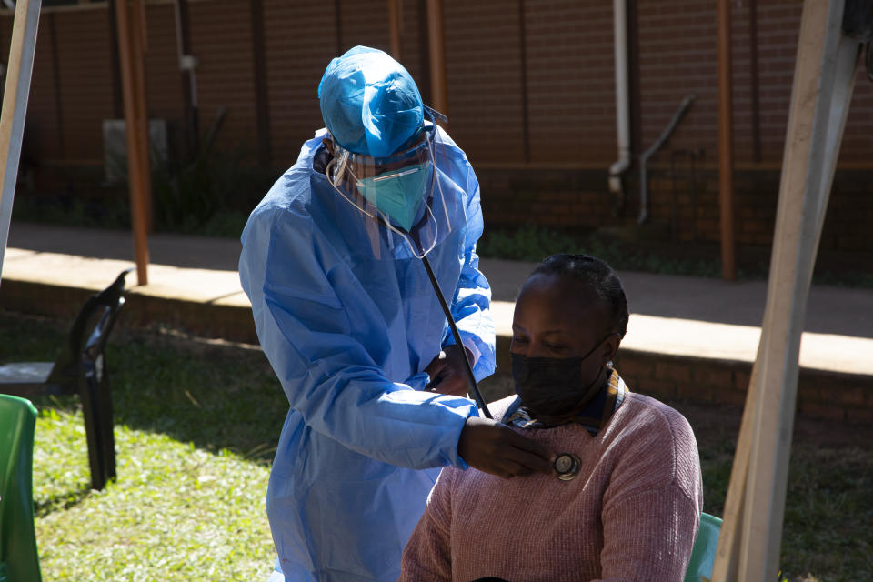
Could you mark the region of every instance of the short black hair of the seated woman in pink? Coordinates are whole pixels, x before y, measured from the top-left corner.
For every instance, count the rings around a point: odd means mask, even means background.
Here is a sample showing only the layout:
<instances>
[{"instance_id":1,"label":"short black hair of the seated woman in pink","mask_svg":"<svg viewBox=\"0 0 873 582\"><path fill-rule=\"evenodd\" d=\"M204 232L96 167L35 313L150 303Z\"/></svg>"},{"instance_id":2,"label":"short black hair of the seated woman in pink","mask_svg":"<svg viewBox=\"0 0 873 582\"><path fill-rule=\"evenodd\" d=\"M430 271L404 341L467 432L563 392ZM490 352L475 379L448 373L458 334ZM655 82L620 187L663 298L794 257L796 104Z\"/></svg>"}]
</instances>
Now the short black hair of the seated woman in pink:
<instances>
[{"instance_id":1,"label":"short black hair of the seated woman in pink","mask_svg":"<svg viewBox=\"0 0 873 582\"><path fill-rule=\"evenodd\" d=\"M618 274L605 261L596 256L568 255L560 253L549 256L534 269L532 275L567 276L585 284L609 309L610 321L618 336L627 333L627 297Z\"/></svg>"}]
</instances>

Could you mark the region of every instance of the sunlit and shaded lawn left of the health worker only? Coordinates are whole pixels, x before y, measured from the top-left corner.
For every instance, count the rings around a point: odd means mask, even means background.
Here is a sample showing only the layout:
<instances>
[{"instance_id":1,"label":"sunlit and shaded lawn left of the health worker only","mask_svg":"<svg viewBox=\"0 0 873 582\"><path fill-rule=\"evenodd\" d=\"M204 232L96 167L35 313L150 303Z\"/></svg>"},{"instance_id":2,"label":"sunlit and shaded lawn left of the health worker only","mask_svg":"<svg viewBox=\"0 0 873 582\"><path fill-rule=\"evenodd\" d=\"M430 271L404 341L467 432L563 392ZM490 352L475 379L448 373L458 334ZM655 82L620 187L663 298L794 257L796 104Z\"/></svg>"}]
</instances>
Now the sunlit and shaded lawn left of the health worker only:
<instances>
[{"instance_id":1,"label":"sunlit and shaded lawn left of the health worker only","mask_svg":"<svg viewBox=\"0 0 873 582\"><path fill-rule=\"evenodd\" d=\"M53 322L0 312L0 362L50 360ZM116 329L106 353L118 479L91 491L75 397L37 398L45 580L263 580L269 463L287 401L259 350Z\"/></svg>"}]
</instances>

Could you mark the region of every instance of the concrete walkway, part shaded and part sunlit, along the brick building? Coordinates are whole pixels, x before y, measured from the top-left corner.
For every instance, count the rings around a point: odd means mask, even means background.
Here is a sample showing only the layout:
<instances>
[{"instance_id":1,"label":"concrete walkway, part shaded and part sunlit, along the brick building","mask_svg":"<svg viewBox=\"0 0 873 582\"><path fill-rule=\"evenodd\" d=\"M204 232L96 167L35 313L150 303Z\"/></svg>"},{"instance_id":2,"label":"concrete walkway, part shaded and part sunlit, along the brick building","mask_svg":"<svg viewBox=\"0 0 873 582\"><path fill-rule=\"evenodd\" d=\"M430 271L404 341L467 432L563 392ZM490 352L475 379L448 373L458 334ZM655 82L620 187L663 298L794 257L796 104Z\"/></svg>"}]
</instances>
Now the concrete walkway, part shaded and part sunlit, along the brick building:
<instances>
[{"instance_id":1,"label":"concrete walkway, part shaded and part sunlit, along the brick building","mask_svg":"<svg viewBox=\"0 0 873 582\"><path fill-rule=\"evenodd\" d=\"M149 284L128 277L128 301L171 325L207 336L254 341L250 305L239 285L234 239L156 234L149 237ZM95 291L134 266L126 231L14 223L3 265L0 308L52 313L57 289ZM482 259L493 289L498 336L511 334L513 301L530 263ZM719 279L619 274L632 315L623 349L752 362L758 348L767 285ZM11 288L10 288L11 287ZM33 289L42 289L39 293ZM228 314L233 312L233 316ZM198 321L200 317L202 320ZM235 323L236 322L236 323ZM214 324L214 325L210 325ZM221 325L218 325L221 324ZM236 329L243 326L245 329ZM814 286L809 295L800 362L805 368L873 376L873 289Z\"/></svg>"}]
</instances>

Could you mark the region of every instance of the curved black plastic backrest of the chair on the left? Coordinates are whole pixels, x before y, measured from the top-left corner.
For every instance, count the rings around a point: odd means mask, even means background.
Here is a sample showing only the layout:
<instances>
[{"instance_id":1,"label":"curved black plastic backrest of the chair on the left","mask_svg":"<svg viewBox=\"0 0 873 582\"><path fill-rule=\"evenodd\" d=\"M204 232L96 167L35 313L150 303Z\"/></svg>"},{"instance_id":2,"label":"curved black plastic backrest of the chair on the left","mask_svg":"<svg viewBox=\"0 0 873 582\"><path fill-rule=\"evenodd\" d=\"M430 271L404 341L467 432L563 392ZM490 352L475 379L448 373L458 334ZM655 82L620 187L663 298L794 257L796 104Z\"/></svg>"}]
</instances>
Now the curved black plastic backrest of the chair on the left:
<instances>
[{"instance_id":1,"label":"curved black plastic backrest of the chair on the left","mask_svg":"<svg viewBox=\"0 0 873 582\"><path fill-rule=\"evenodd\" d=\"M88 297L79 310L70 328L66 344L55 359L55 367L48 377L48 383L64 384L70 376L77 376L83 358L95 362L106 345L106 339L121 306L125 305L122 293L125 290L125 276L134 269L125 269L115 278L112 285Z\"/></svg>"}]
</instances>

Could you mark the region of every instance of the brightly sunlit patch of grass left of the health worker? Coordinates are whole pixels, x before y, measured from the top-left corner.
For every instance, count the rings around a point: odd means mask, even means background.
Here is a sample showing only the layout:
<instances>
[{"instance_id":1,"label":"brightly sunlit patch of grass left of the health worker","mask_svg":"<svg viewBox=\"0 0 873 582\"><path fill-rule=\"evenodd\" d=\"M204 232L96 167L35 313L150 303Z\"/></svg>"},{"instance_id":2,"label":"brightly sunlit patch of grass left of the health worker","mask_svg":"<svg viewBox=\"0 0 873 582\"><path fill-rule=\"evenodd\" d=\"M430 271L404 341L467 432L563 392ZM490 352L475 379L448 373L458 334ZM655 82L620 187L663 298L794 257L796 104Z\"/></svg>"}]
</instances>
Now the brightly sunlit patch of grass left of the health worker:
<instances>
[{"instance_id":1,"label":"brightly sunlit patch of grass left of the health worker","mask_svg":"<svg viewBox=\"0 0 873 582\"><path fill-rule=\"evenodd\" d=\"M36 537L46 580L250 580L276 554L269 468L159 433L115 426L118 480L89 491L78 413L36 425Z\"/></svg>"}]
</instances>

